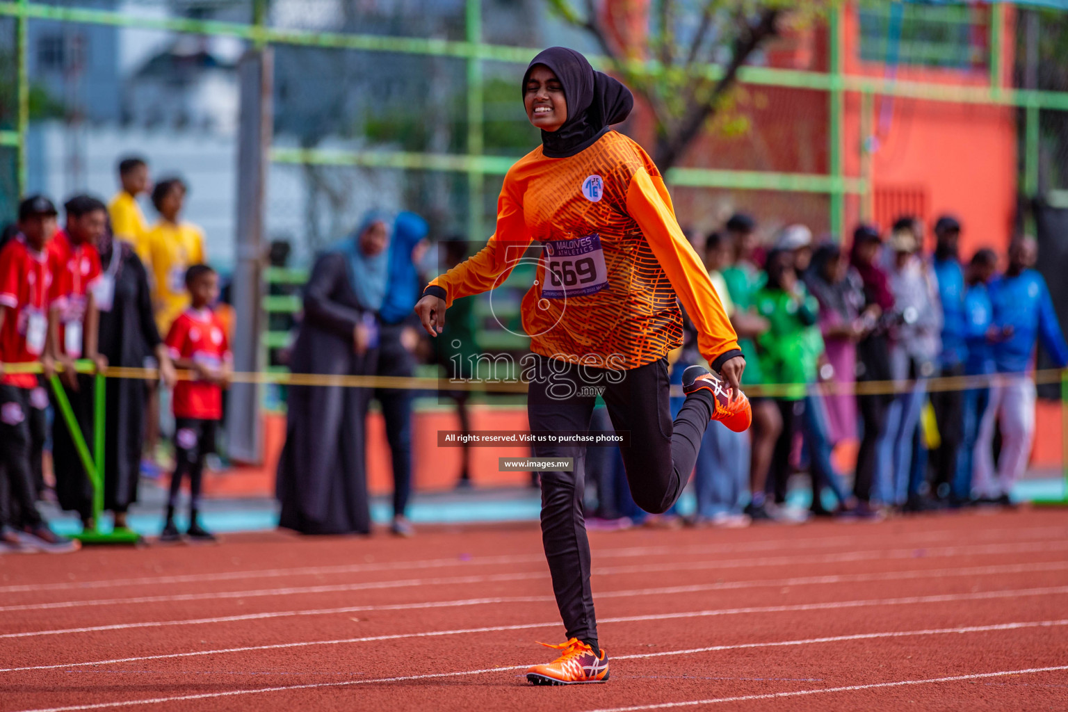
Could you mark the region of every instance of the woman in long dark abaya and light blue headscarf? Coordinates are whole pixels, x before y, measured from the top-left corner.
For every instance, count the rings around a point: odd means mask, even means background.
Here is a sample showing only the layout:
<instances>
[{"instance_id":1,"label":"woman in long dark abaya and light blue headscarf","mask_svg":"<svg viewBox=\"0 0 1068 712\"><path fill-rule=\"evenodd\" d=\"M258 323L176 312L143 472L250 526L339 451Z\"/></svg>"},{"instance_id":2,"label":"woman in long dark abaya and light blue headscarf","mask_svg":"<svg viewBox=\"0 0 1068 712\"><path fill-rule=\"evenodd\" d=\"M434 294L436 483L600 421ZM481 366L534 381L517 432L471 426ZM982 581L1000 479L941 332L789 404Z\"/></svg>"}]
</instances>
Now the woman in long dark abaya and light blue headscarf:
<instances>
[{"instance_id":1,"label":"woman in long dark abaya and light blue headscarf","mask_svg":"<svg viewBox=\"0 0 1068 712\"><path fill-rule=\"evenodd\" d=\"M293 346L295 374L375 373L392 220L370 213L354 236L319 256ZM279 525L302 534L367 534L365 427L372 389L294 385L278 463Z\"/></svg>"}]
</instances>

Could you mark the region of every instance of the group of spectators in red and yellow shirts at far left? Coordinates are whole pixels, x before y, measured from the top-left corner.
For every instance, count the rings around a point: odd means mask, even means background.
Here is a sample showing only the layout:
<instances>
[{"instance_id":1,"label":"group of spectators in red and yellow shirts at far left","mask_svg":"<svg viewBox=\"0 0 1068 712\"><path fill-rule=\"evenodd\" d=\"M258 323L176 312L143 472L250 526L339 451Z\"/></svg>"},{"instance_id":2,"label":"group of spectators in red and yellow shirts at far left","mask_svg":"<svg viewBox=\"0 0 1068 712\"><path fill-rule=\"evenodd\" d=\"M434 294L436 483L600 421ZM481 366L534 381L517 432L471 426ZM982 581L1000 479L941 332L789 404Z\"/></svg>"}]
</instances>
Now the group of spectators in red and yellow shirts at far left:
<instances>
[{"instance_id":1,"label":"group of spectators in red and yellow shirts at far left","mask_svg":"<svg viewBox=\"0 0 1068 712\"><path fill-rule=\"evenodd\" d=\"M182 219L186 184L177 177L153 184L147 162L138 157L122 160L117 174L121 189L108 204L73 195L62 206L61 224L49 197L30 195L19 204L17 222L3 230L0 551L78 548L42 520L42 499L77 512L87 532L96 529L98 508L84 466L97 455L93 374L115 367L152 368L159 378L106 381L104 509L114 512L115 529L125 529L140 475L158 474L162 382L175 445L166 463L172 482L164 539L168 533L178 538L174 508L186 476L186 534L214 538L200 525L198 507L204 461L215 449L214 424L222 417L231 312L219 302L218 276L205 264L202 231ZM138 205L142 193L158 213L153 224ZM175 366L192 371L193 380L177 382Z\"/></svg>"}]
</instances>

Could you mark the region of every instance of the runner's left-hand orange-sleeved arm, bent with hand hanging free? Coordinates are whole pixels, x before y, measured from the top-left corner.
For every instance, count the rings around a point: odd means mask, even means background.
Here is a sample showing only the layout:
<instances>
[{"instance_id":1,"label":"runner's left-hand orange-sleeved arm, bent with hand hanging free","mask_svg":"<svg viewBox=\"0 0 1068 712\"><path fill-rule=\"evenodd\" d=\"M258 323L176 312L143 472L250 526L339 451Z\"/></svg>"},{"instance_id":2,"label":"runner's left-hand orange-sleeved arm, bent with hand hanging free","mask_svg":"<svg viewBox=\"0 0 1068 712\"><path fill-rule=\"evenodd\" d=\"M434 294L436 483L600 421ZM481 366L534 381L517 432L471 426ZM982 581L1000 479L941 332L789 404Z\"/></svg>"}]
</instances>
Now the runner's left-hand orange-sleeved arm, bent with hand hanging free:
<instances>
[{"instance_id":1,"label":"runner's left-hand orange-sleeved arm, bent with hand hanging free","mask_svg":"<svg viewBox=\"0 0 1068 712\"><path fill-rule=\"evenodd\" d=\"M486 247L444 274L430 280L423 297L415 304L423 328L431 336L445 326L445 310L460 297L478 295L508 279L516 262L531 243L523 221L523 208L512 194L505 177L501 196L497 200L497 230Z\"/></svg>"}]
</instances>

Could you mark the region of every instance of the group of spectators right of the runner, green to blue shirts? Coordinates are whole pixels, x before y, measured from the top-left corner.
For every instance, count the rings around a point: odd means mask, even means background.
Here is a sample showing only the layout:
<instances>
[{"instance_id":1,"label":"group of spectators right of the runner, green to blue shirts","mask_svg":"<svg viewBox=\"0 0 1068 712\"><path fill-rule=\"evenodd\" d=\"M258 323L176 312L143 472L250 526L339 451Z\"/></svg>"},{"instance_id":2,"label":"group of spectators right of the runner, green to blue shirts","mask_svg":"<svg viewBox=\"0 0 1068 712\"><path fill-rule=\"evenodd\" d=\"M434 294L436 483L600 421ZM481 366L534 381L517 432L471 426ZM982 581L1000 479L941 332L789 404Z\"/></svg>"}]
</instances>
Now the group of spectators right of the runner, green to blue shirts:
<instances>
[{"instance_id":1,"label":"group of spectators right of the runner, green to blue shirts","mask_svg":"<svg viewBox=\"0 0 1068 712\"><path fill-rule=\"evenodd\" d=\"M719 423L706 431L694 523L1011 504L1035 433L1036 343L1062 368L1068 346L1033 269L1036 241L1021 236L1005 255L962 257L963 228L939 218L929 254L926 226L909 216L886 234L859 225L848 247L816 241L803 225L760 244L747 215L707 237L690 234L738 332L753 406L750 431ZM672 358L675 384L701 362L689 325ZM677 411L682 399L674 401ZM611 428L603 409L595 421ZM611 450L591 452L592 526L648 521L622 465ZM807 510L787 505L800 472L811 480Z\"/></svg>"}]
</instances>

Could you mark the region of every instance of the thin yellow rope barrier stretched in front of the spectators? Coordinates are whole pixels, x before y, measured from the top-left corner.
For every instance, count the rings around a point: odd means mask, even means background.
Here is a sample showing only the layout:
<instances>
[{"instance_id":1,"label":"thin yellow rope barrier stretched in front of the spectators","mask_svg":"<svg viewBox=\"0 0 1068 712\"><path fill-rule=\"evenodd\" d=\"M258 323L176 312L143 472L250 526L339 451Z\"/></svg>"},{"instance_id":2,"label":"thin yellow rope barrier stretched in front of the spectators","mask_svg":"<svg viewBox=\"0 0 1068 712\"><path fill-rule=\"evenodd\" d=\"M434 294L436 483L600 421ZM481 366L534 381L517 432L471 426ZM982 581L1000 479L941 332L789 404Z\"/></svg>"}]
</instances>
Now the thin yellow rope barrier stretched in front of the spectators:
<instances>
[{"instance_id":1,"label":"thin yellow rope barrier stretched in front of the spectators","mask_svg":"<svg viewBox=\"0 0 1068 712\"><path fill-rule=\"evenodd\" d=\"M57 365L59 369L59 364ZM79 361L76 366L79 373L95 373L91 361ZM40 374L40 363L4 364L3 370L9 374ZM979 376L939 376L922 379L928 392L964 391L1028 377L1035 383L1059 383L1062 374L1068 369L1048 368L1031 374L988 374ZM178 380L194 380L189 370L179 370ZM157 379L156 368L130 368L125 366L109 366L103 375L106 378ZM356 389L399 389L410 391L476 391L483 393L525 393L527 383L522 381L452 381L441 378L420 378L405 376L346 376L328 374L289 374L277 371L238 371L232 375L233 383L277 383L280 385L319 385L343 386ZM805 394L814 395L892 395L911 391L916 384L914 380L900 381L859 381L855 383L836 383L833 381L799 384L799 383L763 383L745 387L750 396L782 397ZM672 386L672 395L680 396L680 386Z\"/></svg>"}]
</instances>

